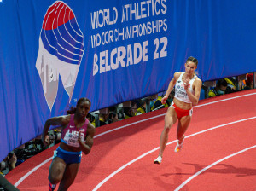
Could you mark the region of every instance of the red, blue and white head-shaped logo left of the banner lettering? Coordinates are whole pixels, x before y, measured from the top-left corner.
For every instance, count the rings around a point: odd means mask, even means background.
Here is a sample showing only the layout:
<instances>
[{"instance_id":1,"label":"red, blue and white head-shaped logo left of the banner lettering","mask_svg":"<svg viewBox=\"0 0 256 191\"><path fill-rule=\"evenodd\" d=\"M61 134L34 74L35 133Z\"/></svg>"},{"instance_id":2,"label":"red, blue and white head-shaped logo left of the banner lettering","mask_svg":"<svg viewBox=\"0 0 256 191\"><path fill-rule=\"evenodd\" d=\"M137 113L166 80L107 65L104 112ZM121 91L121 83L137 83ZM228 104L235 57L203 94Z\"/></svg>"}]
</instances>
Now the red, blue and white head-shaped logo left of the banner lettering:
<instances>
[{"instance_id":1,"label":"red, blue and white head-shaped logo left of the banner lettering","mask_svg":"<svg viewBox=\"0 0 256 191\"><path fill-rule=\"evenodd\" d=\"M56 1L44 15L36 63L50 110L57 96L59 76L71 100L83 55L84 35L73 10Z\"/></svg>"}]
</instances>

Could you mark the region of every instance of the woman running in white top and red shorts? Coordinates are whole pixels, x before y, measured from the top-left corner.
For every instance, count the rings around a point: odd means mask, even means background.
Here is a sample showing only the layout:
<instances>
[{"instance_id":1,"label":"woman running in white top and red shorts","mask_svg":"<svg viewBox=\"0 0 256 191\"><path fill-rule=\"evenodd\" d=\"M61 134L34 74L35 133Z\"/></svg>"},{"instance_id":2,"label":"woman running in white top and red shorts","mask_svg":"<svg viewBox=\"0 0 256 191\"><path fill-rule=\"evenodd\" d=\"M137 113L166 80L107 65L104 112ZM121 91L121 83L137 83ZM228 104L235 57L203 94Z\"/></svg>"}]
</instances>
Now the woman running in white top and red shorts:
<instances>
[{"instance_id":1,"label":"woman running in white top and red shorts","mask_svg":"<svg viewBox=\"0 0 256 191\"><path fill-rule=\"evenodd\" d=\"M163 153L168 141L168 133L173 124L177 122L177 146L175 152L179 152L183 148L184 133L189 127L192 117L192 105L197 105L201 91L201 79L195 75L195 69L198 61L194 57L189 57L185 63L185 72L174 73L169 83L166 96L162 98L162 103L165 104L175 85L175 96L172 105L168 108L165 117L165 128L160 136L160 150L158 158L154 160L154 164L160 164Z\"/></svg>"}]
</instances>

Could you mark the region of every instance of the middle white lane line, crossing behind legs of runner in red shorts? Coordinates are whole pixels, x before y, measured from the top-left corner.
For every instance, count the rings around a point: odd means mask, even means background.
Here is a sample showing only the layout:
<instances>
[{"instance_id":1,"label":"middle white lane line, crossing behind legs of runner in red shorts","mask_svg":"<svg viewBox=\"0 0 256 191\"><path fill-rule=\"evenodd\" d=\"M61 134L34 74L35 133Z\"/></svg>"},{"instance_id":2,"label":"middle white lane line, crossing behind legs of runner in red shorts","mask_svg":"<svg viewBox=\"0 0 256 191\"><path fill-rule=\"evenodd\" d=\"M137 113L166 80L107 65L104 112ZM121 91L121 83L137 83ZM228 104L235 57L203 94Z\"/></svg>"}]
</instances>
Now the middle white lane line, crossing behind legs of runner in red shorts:
<instances>
[{"instance_id":1,"label":"middle white lane line, crossing behind legs of runner in red shorts","mask_svg":"<svg viewBox=\"0 0 256 191\"><path fill-rule=\"evenodd\" d=\"M230 125L230 124L237 124L237 123L240 123L240 122L243 122L243 121L247 121L247 120L251 120L251 119L256 119L256 116L254 116L254 117L252 117L252 118L237 120L237 121L234 121L234 122L230 122L230 123L228 123L228 124L221 124L221 125L218 125L218 126L216 126L216 127L212 127L212 128L210 128L210 129L207 129L207 130L201 130L200 132L197 132L197 133L191 134L191 135L189 135L189 136L186 136L186 139L189 138L189 137L191 137L191 136L197 136L197 135L199 135L199 134L201 134L201 133L205 133L205 132L207 132L207 131L209 131L209 130L215 130L215 129L218 129L219 127L224 127L224 126L227 126L227 125ZM170 144L172 144L172 143L174 143L174 142L177 142L177 140L172 141L172 142L168 142L167 145L170 145ZM125 167L127 167L128 165L131 165L132 163L136 162L137 160L142 159L144 156L148 155L149 153L153 153L154 151L156 151L156 150L158 150L158 149L159 149L159 147L158 147L158 148L154 148L153 150L148 151L147 153L143 153L143 155L141 155L141 156L137 157L136 159L131 160L129 163L127 163L127 164L121 166L118 170L114 171L114 172L111 173L108 177L106 177L104 180L102 180L102 182L100 182L100 183L93 189L93 191L96 191L96 190L98 190L98 188L101 188L102 185L103 185L105 182L107 182L111 177L113 177L114 175L116 175L117 173L119 173L119 171L122 171L123 169L125 169Z\"/></svg>"}]
</instances>

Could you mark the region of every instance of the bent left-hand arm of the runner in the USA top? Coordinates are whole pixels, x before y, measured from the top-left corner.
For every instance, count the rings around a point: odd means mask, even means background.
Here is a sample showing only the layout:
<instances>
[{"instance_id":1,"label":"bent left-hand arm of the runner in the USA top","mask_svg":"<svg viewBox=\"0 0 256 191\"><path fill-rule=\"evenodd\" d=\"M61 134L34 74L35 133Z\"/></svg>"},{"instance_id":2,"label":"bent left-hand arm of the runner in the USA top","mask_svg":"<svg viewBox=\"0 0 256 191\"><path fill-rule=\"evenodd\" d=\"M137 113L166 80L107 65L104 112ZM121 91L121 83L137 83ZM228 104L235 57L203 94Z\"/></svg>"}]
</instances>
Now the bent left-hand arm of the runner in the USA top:
<instances>
[{"instance_id":1,"label":"bent left-hand arm of the runner in the USA top","mask_svg":"<svg viewBox=\"0 0 256 191\"><path fill-rule=\"evenodd\" d=\"M63 115L59 117L53 117L50 119L47 119L44 124L44 130L42 134L42 142L44 145L49 145L49 136L47 135L50 125L62 125L66 126L69 123L70 116L69 115Z\"/></svg>"}]
</instances>

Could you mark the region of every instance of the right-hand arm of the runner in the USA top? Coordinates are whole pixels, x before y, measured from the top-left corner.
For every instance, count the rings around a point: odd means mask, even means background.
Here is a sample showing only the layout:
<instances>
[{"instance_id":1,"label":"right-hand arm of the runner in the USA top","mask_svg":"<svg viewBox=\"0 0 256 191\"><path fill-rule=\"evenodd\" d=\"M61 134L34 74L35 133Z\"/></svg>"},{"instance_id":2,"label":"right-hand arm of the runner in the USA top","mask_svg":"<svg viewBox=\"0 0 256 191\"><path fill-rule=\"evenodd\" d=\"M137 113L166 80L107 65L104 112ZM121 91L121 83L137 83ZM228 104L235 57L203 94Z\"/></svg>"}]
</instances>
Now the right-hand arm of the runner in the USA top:
<instances>
[{"instance_id":1,"label":"right-hand arm of the runner in the USA top","mask_svg":"<svg viewBox=\"0 0 256 191\"><path fill-rule=\"evenodd\" d=\"M82 142L81 137L80 137L80 132L79 132L78 141L79 141L79 145L80 145L80 148L82 149L83 153L85 153L85 154L90 153L90 150L93 145L94 134L95 134L95 127L92 124L90 124L90 122L87 126L85 142Z\"/></svg>"}]
</instances>

